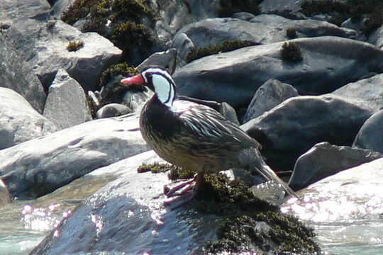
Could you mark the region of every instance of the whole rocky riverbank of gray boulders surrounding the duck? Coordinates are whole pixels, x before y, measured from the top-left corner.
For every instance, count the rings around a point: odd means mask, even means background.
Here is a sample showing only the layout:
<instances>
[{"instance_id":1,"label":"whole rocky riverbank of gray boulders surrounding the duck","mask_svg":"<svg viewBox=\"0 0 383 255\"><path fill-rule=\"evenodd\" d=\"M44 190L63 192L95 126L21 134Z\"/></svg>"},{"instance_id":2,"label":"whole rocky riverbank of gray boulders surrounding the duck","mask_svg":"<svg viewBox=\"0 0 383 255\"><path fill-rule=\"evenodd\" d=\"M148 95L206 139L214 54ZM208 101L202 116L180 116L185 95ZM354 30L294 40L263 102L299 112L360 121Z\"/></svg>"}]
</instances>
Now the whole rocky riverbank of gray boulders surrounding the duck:
<instances>
[{"instance_id":1,"label":"whole rocky riverbank of gray boulders surrounding the duck","mask_svg":"<svg viewBox=\"0 0 383 255\"><path fill-rule=\"evenodd\" d=\"M379 218L383 4L372 2L0 3L0 206L74 210L30 254L320 254L289 214ZM138 127L150 91L118 84L152 64L260 142L302 200L281 205L278 187L232 169L255 197L218 175L206 193L219 196L164 208L167 174L137 171L164 163Z\"/></svg>"}]
</instances>

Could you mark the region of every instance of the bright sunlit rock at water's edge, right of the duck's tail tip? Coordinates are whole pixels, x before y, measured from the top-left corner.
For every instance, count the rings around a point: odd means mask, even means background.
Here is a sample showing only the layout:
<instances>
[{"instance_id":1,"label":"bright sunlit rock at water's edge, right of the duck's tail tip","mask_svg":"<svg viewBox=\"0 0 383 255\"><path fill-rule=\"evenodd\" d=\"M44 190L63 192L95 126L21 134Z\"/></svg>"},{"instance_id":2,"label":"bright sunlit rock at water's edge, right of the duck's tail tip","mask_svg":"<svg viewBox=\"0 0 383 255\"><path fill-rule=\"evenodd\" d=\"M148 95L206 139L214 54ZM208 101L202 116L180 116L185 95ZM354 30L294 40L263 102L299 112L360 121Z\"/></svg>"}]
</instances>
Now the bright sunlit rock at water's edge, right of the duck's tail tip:
<instances>
[{"instance_id":1,"label":"bright sunlit rock at water's edge, right of the duck's tail tip","mask_svg":"<svg viewBox=\"0 0 383 255\"><path fill-rule=\"evenodd\" d=\"M281 210L316 222L379 220L383 203L382 169L383 158L328 176L299 191L302 200L289 200Z\"/></svg>"}]
</instances>

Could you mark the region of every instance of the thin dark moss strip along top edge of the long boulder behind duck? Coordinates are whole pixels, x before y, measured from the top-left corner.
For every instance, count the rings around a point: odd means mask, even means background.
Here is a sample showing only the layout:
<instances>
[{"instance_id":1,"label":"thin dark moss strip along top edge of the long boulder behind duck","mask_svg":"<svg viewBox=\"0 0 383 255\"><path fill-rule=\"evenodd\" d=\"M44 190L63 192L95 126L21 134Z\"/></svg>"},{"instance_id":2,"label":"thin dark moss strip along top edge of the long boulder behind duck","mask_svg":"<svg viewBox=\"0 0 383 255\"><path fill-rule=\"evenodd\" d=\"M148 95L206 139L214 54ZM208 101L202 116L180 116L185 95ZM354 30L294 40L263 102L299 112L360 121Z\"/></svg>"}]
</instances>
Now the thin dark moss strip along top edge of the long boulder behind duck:
<instances>
[{"instance_id":1,"label":"thin dark moss strip along top edge of the long boulder behind duck","mask_svg":"<svg viewBox=\"0 0 383 255\"><path fill-rule=\"evenodd\" d=\"M248 47L251 45L256 44L247 40L225 40L221 44L203 47L189 52L189 54L186 57L186 61L189 63L201 57L217 54L219 52L229 52L231 50L236 50L241 47Z\"/></svg>"}]
</instances>

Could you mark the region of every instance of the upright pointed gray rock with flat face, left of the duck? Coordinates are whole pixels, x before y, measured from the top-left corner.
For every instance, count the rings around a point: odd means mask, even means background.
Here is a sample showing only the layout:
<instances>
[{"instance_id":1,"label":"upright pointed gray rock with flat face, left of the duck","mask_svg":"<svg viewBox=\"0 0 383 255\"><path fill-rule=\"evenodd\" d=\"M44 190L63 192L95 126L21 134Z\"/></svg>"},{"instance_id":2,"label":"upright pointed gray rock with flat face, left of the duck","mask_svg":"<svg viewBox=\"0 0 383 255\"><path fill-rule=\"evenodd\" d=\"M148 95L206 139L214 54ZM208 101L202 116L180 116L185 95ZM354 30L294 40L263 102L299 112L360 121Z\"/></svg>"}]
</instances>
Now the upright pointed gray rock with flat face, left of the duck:
<instances>
[{"instance_id":1,"label":"upright pointed gray rock with flat face, left of the duck","mask_svg":"<svg viewBox=\"0 0 383 255\"><path fill-rule=\"evenodd\" d=\"M60 130L92 119L84 89L65 69L58 70L49 87L44 116Z\"/></svg>"}]
</instances>

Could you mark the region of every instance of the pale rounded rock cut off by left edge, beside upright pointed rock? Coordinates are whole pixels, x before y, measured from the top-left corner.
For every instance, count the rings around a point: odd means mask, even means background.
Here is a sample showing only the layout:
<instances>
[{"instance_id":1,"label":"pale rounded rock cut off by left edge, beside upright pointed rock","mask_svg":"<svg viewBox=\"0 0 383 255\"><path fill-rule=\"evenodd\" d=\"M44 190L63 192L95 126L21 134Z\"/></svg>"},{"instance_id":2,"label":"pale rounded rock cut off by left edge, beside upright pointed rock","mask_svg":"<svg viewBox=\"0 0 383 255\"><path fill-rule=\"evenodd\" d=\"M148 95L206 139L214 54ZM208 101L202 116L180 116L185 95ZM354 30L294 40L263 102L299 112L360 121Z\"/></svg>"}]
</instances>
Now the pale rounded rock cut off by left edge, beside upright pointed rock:
<instances>
[{"instance_id":1,"label":"pale rounded rock cut off by left edge, beside upright pointed rock","mask_svg":"<svg viewBox=\"0 0 383 255\"><path fill-rule=\"evenodd\" d=\"M0 88L0 149L47 135L55 125L15 91Z\"/></svg>"}]
</instances>

